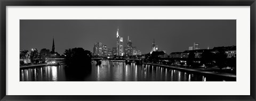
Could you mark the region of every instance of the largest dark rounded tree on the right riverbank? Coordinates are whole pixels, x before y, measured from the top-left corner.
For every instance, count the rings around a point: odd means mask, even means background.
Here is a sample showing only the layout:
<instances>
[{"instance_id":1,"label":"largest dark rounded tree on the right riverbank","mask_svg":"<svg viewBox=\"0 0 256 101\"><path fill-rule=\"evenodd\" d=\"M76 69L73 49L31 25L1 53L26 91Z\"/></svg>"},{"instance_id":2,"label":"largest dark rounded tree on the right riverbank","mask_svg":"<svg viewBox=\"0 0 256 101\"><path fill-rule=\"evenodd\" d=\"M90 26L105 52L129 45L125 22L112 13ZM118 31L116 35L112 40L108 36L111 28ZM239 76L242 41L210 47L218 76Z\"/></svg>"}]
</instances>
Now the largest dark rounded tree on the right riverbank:
<instances>
[{"instance_id":1,"label":"largest dark rounded tree on the right riverbank","mask_svg":"<svg viewBox=\"0 0 256 101\"><path fill-rule=\"evenodd\" d=\"M220 70L222 68L225 68L227 66L227 54L225 53L225 51L219 51L215 54L215 61L216 61L216 65L218 66L218 68L220 68Z\"/></svg>"}]
</instances>

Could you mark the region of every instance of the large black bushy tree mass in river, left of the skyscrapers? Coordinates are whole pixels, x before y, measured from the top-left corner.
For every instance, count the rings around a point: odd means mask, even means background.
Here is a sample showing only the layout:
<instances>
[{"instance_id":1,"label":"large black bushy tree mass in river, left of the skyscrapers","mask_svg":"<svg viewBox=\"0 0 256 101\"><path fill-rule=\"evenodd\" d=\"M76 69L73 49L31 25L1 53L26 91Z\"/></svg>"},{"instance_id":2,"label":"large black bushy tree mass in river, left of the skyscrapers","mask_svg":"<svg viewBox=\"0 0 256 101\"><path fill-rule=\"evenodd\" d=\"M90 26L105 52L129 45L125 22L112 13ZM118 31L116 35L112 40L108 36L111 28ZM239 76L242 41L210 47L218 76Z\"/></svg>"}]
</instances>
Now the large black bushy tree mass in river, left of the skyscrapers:
<instances>
[{"instance_id":1,"label":"large black bushy tree mass in river, left of the skyscrapers","mask_svg":"<svg viewBox=\"0 0 256 101\"><path fill-rule=\"evenodd\" d=\"M64 62L67 66L73 66L74 68L84 68L84 66L90 66L92 53L86 51L83 48L66 49L66 55Z\"/></svg>"}]
</instances>

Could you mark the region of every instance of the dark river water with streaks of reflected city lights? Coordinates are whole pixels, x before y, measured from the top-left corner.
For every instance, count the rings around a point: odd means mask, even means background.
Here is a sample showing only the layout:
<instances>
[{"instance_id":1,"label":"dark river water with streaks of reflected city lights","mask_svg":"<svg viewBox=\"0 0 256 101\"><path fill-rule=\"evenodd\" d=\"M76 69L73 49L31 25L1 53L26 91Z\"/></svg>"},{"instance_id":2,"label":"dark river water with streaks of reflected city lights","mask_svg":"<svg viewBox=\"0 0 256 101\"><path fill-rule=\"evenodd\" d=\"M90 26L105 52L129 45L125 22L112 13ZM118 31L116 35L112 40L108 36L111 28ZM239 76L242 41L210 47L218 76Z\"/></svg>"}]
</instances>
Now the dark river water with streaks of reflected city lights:
<instances>
[{"instance_id":1,"label":"dark river water with streaks of reflected city lights","mask_svg":"<svg viewBox=\"0 0 256 101\"><path fill-rule=\"evenodd\" d=\"M20 70L20 81L223 81L218 77L205 77L151 65L126 65L123 62L92 64L91 70L69 73L65 65L38 66ZM79 74L78 74L79 73ZM226 80L225 80L226 81Z\"/></svg>"}]
</instances>

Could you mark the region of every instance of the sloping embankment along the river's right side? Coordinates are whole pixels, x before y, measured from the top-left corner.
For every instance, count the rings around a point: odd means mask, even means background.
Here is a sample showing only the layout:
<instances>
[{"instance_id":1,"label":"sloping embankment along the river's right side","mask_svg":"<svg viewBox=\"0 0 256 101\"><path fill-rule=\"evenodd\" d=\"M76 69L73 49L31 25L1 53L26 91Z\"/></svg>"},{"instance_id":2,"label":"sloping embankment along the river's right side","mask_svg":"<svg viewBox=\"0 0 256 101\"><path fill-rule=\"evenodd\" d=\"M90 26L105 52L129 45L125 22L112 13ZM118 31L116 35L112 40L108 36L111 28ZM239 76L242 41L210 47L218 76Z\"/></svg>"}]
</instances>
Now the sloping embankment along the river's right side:
<instances>
[{"instance_id":1,"label":"sloping embankment along the river's right side","mask_svg":"<svg viewBox=\"0 0 256 101\"><path fill-rule=\"evenodd\" d=\"M143 64L162 66L162 67L170 68L170 69L173 69L173 70L190 72L190 73L197 73L197 74L202 74L202 75L205 75L205 76L207 76L207 75L217 76L217 77L232 79L232 80L236 81L236 74L231 74L231 73L209 72L209 71L203 71L203 70L199 70L199 69L180 68L179 66L169 66L169 65L153 64L153 63L143 63Z\"/></svg>"}]
</instances>

